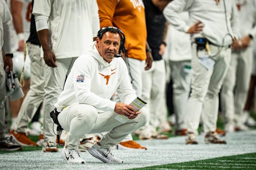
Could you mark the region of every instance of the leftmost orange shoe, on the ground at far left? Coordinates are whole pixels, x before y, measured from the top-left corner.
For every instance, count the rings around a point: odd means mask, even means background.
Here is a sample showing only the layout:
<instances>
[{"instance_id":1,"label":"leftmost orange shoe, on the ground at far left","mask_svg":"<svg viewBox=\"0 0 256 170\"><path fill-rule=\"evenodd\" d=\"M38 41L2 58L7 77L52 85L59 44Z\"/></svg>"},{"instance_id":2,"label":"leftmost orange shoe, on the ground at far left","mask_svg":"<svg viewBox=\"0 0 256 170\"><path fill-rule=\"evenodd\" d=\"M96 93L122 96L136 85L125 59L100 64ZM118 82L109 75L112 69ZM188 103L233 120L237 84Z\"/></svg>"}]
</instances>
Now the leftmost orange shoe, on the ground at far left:
<instances>
[{"instance_id":1,"label":"leftmost orange shoe, on the ground at far left","mask_svg":"<svg viewBox=\"0 0 256 170\"><path fill-rule=\"evenodd\" d=\"M38 146L38 144L33 142L28 136L26 136L25 133L19 133L19 132L15 132L14 130L12 130L9 133L9 136L10 136L10 140L15 144L19 144L21 146L28 146L28 147L37 147Z\"/></svg>"}]
</instances>

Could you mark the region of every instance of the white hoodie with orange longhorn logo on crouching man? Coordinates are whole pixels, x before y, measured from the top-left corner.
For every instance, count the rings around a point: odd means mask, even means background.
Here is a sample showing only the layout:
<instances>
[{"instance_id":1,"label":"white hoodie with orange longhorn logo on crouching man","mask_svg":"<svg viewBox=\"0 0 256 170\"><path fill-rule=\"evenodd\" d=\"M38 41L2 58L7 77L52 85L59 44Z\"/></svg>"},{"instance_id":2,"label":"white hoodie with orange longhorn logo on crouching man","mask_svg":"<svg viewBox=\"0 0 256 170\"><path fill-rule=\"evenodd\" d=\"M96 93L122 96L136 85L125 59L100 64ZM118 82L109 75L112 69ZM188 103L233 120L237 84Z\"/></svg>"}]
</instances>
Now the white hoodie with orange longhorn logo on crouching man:
<instances>
[{"instance_id":1,"label":"white hoodie with orange longhorn logo on crouching man","mask_svg":"<svg viewBox=\"0 0 256 170\"><path fill-rule=\"evenodd\" d=\"M114 111L111 96L117 92L121 101L131 103L137 96L122 58L107 63L97 51L94 41L75 61L55 104L58 111L74 103L90 104L98 112Z\"/></svg>"}]
</instances>

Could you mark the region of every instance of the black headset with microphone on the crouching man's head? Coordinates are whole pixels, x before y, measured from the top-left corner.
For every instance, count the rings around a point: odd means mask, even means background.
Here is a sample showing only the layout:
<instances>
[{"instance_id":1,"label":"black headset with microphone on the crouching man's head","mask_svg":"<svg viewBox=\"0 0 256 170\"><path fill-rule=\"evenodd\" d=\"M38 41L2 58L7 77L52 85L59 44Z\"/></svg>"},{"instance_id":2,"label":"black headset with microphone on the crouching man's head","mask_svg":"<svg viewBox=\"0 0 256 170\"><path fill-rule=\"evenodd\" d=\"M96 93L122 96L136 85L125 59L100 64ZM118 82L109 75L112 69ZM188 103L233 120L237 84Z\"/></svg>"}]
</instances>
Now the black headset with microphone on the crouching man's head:
<instances>
[{"instance_id":1,"label":"black headset with microphone on the crouching man's head","mask_svg":"<svg viewBox=\"0 0 256 170\"><path fill-rule=\"evenodd\" d=\"M119 33L120 33L120 38L121 38L121 41L120 41L120 47L118 49L118 54L115 54L115 57L122 57L125 55L125 51L124 51L124 43L125 43L125 36L124 36L124 33L116 28L116 27L112 27L112 26L109 26L109 27L103 27L102 29L100 29L97 33L97 37L99 37L100 39L103 37L103 34L106 33L108 30L117 30ZM124 54L121 55L121 52L123 52Z\"/></svg>"}]
</instances>

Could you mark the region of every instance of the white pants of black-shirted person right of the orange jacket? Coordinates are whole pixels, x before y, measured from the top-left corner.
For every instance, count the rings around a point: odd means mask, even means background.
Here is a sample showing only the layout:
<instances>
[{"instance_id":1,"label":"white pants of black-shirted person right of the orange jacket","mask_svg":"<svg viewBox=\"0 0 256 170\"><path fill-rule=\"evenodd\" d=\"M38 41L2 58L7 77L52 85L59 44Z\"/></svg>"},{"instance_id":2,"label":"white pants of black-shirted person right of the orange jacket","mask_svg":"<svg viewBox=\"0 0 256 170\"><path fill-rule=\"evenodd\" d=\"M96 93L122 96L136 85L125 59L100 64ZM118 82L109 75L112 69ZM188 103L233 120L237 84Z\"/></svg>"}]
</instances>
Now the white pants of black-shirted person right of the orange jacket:
<instances>
[{"instance_id":1,"label":"white pants of black-shirted person right of the orange jacket","mask_svg":"<svg viewBox=\"0 0 256 170\"><path fill-rule=\"evenodd\" d=\"M164 114L159 108L164 97L165 76L164 60L153 61L151 69L142 72L142 99L147 101L145 107L150 112L149 123L146 126L151 126L154 130L159 126L159 116Z\"/></svg>"}]
</instances>

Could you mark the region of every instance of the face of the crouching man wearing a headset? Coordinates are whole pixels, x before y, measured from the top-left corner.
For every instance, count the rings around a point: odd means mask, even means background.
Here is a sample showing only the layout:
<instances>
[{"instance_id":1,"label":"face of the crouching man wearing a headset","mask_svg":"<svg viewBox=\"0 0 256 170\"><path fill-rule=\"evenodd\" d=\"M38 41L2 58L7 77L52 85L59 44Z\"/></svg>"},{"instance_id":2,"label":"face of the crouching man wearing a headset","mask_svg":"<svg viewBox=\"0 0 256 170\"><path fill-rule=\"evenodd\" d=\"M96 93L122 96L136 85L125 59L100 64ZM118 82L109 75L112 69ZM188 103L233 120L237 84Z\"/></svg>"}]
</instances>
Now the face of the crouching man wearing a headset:
<instances>
[{"instance_id":1,"label":"face of the crouching man wearing a headset","mask_svg":"<svg viewBox=\"0 0 256 170\"><path fill-rule=\"evenodd\" d=\"M106 32L101 40L97 38L96 47L100 56L102 56L106 62L110 63L115 54L118 53L120 47L120 35L118 33Z\"/></svg>"}]
</instances>

